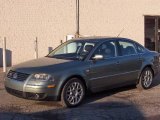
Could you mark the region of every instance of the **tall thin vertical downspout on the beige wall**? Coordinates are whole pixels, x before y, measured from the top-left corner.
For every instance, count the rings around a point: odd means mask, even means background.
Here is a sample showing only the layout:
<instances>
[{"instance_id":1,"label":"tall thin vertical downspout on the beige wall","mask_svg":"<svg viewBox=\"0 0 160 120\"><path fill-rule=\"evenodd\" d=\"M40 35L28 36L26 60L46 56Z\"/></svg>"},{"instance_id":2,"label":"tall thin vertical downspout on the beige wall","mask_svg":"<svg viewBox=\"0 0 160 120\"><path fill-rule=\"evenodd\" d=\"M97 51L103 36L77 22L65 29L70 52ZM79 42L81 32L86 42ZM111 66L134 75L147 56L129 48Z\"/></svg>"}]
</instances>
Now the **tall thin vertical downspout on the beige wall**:
<instances>
[{"instance_id":1,"label":"tall thin vertical downspout on the beige wall","mask_svg":"<svg viewBox=\"0 0 160 120\"><path fill-rule=\"evenodd\" d=\"M79 37L79 0L76 0L76 33L75 37Z\"/></svg>"}]
</instances>

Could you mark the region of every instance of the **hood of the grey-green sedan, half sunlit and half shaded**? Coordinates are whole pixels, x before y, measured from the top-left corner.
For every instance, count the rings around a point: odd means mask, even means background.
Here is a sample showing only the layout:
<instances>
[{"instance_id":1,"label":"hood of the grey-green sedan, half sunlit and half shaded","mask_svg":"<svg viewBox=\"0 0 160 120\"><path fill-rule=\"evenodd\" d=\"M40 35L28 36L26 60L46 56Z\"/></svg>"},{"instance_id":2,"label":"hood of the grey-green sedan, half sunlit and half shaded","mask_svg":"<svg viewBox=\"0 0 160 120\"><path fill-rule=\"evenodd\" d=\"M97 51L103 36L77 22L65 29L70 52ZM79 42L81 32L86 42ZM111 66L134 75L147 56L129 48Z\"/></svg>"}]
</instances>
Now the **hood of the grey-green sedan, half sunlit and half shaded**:
<instances>
[{"instance_id":1,"label":"hood of the grey-green sedan, half sunlit and half shaded","mask_svg":"<svg viewBox=\"0 0 160 120\"><path fill-rule=\"evenodd\" d=\"M28 74L53 73L54 71L66 69L73 62L76 61L43 57L35 60L30 60L24 63L20 63L18 65L13 66L11 69L17 72L23 72Z\"/></svg>"}]
</instances>

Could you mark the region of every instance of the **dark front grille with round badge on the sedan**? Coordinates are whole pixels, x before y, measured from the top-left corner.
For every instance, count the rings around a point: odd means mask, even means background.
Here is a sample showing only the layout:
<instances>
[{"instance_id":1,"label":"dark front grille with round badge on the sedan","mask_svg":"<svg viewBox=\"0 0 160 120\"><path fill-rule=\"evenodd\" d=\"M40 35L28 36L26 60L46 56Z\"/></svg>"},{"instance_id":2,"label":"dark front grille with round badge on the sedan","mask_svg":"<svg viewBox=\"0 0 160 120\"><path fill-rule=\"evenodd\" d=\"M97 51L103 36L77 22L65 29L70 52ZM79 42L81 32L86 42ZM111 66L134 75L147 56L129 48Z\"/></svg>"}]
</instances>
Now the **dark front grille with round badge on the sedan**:
<instances>
[{"instance_id":1,"label":"dark front grille with round badge on the sedan","mask_svg":"<svg viewBox=\"0 0 160 120\"><path fill-rule=\"evenodd\" d=\"M7 77L18 81L25 81L29 77L29 74L10 70Z\"/></svg>"}]
</instances>

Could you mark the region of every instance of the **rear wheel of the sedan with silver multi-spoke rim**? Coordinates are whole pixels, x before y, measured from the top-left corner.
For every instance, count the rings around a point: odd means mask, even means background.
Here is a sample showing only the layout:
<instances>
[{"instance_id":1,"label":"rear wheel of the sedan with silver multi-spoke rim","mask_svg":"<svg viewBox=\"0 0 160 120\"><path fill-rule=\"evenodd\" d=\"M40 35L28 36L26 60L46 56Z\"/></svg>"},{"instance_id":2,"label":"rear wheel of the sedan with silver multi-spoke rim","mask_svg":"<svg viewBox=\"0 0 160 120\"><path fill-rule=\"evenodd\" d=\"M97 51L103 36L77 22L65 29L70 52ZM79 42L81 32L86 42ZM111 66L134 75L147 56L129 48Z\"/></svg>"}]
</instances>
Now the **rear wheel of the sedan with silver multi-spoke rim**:
<instances>
[{"instance_id":1,"label":"rear wheel of the sedan with silver multi-spoke rim","mask_svg":"<svg viewBox=\"0 0 160 120\"><path fill-rule=\"evenodd\" d=\"M153 83L153 71L151 68L147 67L142 71L139 77L137 88L140 90L149 89L152 86L152 83Z\"/></svg>"}]
</instances>

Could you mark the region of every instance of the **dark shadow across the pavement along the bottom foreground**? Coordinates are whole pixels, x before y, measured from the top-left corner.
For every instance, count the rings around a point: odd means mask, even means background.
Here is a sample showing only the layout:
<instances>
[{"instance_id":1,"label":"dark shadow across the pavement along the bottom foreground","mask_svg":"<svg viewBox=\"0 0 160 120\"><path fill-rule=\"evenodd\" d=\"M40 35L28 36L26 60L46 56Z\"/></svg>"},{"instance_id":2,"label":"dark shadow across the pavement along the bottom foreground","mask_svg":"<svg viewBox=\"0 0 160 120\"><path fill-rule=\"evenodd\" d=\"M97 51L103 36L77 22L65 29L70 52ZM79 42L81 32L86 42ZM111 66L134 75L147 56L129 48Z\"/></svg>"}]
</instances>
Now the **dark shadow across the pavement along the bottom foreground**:
<instances>
[{"instance_id":1,"label":"dark shadow across the pavement along the bottom foreground","mask_svg":"<svg viewBox=\"0 0 160 120\"><path fill-rule=\"evenodd\" d=\"M10 118L10 119L5 119ZM77 108L59 108L35 113L0 112L0 119L23 120L145 120L133 103L101 102Z\"/></svg>"}]
</instances>

